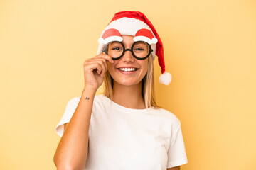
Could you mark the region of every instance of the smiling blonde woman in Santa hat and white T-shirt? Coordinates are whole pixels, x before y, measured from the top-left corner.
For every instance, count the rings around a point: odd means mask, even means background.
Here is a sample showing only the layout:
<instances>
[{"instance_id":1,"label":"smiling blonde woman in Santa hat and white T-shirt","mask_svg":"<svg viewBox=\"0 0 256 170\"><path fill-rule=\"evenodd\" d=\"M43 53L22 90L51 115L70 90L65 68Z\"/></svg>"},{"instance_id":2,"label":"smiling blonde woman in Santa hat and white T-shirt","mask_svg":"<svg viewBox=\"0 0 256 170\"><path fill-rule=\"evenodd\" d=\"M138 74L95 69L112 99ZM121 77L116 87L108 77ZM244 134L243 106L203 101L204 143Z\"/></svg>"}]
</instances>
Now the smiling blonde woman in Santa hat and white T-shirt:
<instances>
[{"instance_id":1,"label":"smiling blonde woman in Santa hat and white T-shirt","mask_svg":"<svg viewBox=\"0 0 256 170\"><path fill-rule=\"evenodd\" d=\"M180 169L187 163L181 123L156 105L153 60L169 84L154 26L137 11L116 13L85 60L85 88L56 127L57 169ZM95 96L104 81L104 94Z\"/></svg>"}]
</instances>

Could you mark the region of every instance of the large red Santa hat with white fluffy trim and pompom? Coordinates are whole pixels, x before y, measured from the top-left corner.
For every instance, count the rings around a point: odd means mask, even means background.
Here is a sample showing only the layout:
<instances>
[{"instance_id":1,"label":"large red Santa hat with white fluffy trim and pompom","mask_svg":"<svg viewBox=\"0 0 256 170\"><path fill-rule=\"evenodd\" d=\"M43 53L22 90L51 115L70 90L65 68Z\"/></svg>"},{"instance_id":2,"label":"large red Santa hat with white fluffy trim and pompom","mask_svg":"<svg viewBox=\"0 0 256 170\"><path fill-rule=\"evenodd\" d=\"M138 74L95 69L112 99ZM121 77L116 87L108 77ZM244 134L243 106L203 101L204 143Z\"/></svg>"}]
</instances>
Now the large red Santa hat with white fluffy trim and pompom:
<instances>
[{"instance_id":1,"label":"large red Santa hat with white fluffy trim and pompom","mask_svg":"<svg viewBox=\"0 0 256 170\"><path fill-rule=\"evenodd\" d=\"M122 35L133 35L134 42L144 41L151 45L153 49L153 52L151 52L153 60L157 55L161 67L159 81L161 84L168 85L171 82L171 74L165 70L163 44L159 35L156 33L156 29L144 13L139 11L121 11L115 13L98 39L99 47L97 55L102 53L103 48L108 42L121 42L123 40Z\"/></svg>"}]
</instances>

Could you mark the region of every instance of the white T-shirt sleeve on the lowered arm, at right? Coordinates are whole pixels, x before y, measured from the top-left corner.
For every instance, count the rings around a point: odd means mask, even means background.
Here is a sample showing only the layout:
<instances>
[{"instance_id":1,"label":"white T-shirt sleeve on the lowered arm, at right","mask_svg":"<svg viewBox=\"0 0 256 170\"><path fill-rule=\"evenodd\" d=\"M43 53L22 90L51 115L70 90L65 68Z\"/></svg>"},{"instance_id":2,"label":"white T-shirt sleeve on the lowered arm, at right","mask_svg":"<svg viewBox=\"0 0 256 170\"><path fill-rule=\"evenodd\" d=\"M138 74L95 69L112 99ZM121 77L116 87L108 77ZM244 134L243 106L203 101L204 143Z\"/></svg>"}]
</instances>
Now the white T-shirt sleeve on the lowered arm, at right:
<instances>
[{"instance_id":1,"label":"white T-shirt sleeve on the lowered arm, at right","mask_svg":"<svg viewBox=\"0 0 256 170\"><path fill-rule=\"evenodd\" d=\"M181 122L178 120L178 118L176 118L176 121L173 123L173 125L171 125L171 139L167 154L167 168L172 168L188 163L181 132Z\"/></svg>"}]
</instances>

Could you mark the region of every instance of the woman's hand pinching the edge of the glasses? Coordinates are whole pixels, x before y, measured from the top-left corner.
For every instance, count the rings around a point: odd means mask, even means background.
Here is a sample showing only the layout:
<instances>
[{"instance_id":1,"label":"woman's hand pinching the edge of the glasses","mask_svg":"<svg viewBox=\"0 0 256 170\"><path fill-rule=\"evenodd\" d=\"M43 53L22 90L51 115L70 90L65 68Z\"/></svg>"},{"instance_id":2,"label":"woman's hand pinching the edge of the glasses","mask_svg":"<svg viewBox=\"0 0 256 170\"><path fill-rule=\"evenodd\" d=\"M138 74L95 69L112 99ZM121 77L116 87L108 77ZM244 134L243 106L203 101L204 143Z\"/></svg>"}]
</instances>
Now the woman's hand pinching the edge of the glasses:
<instances>
[{"instance_id":1,"label":"woman's hand pinching the edge of the glasses","mask_svg":"<svg viewBox=\"0 0 256 170\"><path fill-rule=\"evenodd\" d=\"M85 88L97 91L102 85L104 75L107 72L107 62L113 63L114 60L112 57L105 54L100 54L85 60L83 64Z\"/></svg>"}]
</instances>

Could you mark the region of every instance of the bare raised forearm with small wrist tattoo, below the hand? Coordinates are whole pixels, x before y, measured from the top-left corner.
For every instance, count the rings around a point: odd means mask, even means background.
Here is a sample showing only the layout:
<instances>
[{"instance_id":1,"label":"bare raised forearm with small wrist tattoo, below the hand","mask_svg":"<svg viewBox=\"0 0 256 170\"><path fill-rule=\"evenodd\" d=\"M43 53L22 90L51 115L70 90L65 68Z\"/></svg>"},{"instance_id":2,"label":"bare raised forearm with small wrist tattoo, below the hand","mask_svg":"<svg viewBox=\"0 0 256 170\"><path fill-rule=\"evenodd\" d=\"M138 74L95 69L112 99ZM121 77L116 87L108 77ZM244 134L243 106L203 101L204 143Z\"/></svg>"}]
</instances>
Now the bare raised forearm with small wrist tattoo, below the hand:
<instances>
[{"instance_id":1,"label":"bare raised forearm with small wrist tattoo, below the hand","mask_svg":"<svg viewBox=\"0 0 256 170\"><path fill-rule=\"evenodd\" d=\"M75 113L65 128L54 155L58 169L83 169L87 159L88 136L95 91L84 89Z\"/></svg>"}]
</instances>

